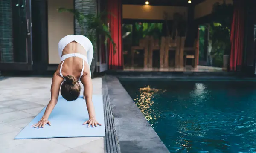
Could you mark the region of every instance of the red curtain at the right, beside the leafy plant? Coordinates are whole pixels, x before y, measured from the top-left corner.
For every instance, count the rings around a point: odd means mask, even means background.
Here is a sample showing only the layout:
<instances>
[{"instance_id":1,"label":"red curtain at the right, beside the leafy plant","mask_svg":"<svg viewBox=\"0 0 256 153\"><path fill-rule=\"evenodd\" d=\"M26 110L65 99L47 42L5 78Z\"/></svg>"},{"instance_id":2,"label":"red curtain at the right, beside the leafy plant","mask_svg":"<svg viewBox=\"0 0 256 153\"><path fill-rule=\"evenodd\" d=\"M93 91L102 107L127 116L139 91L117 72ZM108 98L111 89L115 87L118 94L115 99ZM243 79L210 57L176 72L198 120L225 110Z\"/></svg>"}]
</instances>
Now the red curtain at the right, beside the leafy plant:
<instances>
[{"instance_id":1,"label":"red curtain at the right, beside the leafy plant","mask_svg":"<svg viewBox=\"0 0 256 153\"><path fill-rule=\"evenodd\" d=\"M233 21L231 25L231 52L230 52L230 70L236 71L238 66L242 65L243 47L244 47L244 1L234 0Z\"/></svg>"}]
</instances>

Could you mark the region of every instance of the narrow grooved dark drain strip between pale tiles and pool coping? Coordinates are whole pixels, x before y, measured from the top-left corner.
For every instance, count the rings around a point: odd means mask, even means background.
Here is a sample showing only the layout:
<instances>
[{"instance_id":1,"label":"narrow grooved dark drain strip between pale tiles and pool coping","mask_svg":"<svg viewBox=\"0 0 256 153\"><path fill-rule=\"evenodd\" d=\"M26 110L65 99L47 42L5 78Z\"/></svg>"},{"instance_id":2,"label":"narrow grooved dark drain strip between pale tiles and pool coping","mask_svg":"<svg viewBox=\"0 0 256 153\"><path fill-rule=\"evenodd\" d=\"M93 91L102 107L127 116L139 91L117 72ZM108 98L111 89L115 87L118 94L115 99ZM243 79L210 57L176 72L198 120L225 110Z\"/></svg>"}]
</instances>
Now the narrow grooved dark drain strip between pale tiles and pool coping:
<instances>
[{"instance_id":1,"label":"narrow grooved dark drain strip between pale tiles and pool coping","mask_svg":"<svg viewBox=\"0 0 256 153\"><path fill-rule=\"evenodd\" d=\"M105 77L102 77L102 95L106 133L106 136L104 137L105 153L121 153L120 146L116 136L116 129L114 126L113 115L109 102L108 87L105 81Z\"/></svg>"}]
</instances>

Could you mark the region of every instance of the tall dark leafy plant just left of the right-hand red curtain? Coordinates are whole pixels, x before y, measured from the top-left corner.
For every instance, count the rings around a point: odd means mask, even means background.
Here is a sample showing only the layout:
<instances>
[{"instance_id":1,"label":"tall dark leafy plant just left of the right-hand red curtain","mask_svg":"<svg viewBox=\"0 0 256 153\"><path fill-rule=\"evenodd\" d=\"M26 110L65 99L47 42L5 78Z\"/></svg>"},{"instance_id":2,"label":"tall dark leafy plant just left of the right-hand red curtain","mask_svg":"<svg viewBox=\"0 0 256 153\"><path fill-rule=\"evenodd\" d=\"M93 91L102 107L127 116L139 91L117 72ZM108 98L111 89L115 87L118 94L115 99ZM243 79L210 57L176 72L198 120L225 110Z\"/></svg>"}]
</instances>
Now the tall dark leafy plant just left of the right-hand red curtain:
<instances>
[{"instance_id":1,"label":"tall dark leafy plant just left of the right-hand red curtain","mask_svg":"<svg viewBox=\"0 0 256 153\"><path fill-rule=\"evenodd\" d=\"M227 4L226 0L222 3L215 3L212 7L212 14L215 23L212 23L212 46L223 52L223 69L227 69L230 55L230 30L233 16L233 5ZM218 52L219 53L219 52Z\"/></svg>"}]
</instances>

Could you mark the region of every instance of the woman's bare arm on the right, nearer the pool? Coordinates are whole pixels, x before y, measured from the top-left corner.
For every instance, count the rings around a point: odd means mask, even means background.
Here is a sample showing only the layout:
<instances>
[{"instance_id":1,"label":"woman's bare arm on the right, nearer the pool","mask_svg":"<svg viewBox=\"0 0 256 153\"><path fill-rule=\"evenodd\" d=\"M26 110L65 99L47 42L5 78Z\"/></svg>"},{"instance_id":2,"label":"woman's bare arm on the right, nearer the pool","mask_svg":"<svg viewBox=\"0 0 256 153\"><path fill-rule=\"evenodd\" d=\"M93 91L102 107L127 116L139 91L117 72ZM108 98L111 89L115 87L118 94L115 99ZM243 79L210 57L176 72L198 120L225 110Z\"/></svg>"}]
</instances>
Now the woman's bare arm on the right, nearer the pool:
<instances>
[{"instance_id":1,"label":"woman's bare arm on the right, nearer the pool","mask_svg":"<svg viewBox=\"0 0 256 153\"><path fill-rule=\"evenodd\" d=\"M92 125L92 127L97 126L97 124L101 125L96 121L96 118L95 118L95 110L94 110L93 101L92 101L93 83L92 83L91 76L89 74L84 75L81 78L81 82L84 85L84 99L86 101L86 107L89 114L89 120L84 122L84 124L88 124L88 127L90 127L90 125Z\"/></svg>"}]
</instances>

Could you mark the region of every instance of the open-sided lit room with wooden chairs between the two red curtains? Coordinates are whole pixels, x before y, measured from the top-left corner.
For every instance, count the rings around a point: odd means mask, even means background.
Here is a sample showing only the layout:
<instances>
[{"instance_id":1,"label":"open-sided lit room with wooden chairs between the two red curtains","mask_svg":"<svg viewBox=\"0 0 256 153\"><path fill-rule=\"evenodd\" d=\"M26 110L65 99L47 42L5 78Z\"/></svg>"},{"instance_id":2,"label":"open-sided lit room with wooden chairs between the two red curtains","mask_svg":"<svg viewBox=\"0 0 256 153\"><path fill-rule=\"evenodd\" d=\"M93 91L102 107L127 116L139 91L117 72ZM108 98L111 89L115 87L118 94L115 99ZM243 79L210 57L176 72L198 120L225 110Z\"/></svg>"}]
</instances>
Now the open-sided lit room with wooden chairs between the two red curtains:
<instances>
[{"instance_id":1,"label":"open-sided lit room with wooden chairs between the two red curtains","mask_svg":"<svg viewBox=\"0 0 256 153\"><path fill-rule=\"evenodd\" d=\"M124 70L226 71L230 33L212 15L217 4L223 1L122 0Z\"/></svg>"}]
</instances>

